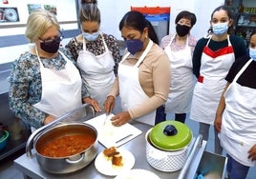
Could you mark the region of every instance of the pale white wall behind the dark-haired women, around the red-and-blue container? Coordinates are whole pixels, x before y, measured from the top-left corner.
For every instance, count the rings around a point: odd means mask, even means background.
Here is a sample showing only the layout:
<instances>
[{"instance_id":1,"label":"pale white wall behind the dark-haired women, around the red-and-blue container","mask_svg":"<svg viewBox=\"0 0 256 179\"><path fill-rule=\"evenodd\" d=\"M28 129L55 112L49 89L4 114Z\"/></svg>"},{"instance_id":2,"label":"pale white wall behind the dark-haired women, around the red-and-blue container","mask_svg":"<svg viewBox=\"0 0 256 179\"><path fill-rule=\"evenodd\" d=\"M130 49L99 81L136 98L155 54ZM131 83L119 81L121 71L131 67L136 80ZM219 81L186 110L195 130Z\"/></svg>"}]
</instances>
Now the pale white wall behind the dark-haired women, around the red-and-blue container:
<instances>
[{"instance_id":1,"label":"pale white wall behind the dark-haired women, around the red-and-blue container","mask_svg":"<svg viewBox=\"0 0 256 179\"><path fill-rule=\"evenodd\" d=\"M170 32L175 31L174 21L181 10L189 10L197 15L198 22L192 29L192 34L201 38L209 28L210 14L212 10L224 4L224 0L98 0L98 8L101 12L101 28L122 40L118 30L118 24L122 16L132 7L171 7Z\"/></svg>"}]
</instances>

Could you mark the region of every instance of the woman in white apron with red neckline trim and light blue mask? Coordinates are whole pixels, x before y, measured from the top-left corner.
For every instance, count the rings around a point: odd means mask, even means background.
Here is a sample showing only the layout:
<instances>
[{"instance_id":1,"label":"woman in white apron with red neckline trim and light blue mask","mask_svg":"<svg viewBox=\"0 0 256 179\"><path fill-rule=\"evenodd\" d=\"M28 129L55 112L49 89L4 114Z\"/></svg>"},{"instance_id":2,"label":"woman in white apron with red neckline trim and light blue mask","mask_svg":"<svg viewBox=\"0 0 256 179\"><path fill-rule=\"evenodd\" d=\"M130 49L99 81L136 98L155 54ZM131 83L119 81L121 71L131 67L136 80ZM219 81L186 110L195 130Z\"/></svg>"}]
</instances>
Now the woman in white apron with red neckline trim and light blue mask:
<instances>
[{"instance_id":1,"label":"woman in white apron with red neckline trim and light blue mask","mask_svg":"<svg viewBox=\"0 0 256 179\"><path fill-rule=\"evenodd\" d=\"M221 6L211 14L209 35L200 39L193 54L193 72L198 78L193 91L190 118L200 122L199 133L208 140L216 109L224 90L224 77L235 59L246 54L245 41L231 34L233 17L228 7ZM217 131L215 149L221 154Z\"/></svg>"}]
</instances>

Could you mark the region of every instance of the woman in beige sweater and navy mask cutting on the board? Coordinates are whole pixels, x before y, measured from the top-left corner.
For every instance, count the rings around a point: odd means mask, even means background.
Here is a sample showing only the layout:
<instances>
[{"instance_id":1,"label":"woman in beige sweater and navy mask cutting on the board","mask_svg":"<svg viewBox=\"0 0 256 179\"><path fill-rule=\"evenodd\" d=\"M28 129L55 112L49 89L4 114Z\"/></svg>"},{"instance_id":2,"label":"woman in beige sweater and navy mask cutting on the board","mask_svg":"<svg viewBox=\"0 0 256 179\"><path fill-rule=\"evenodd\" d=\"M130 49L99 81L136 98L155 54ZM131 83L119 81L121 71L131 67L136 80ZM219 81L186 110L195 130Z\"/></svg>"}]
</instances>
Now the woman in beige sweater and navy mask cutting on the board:
<instances>
[{"instance_id":1,"label":"woman in beige sweater and navy mask cutting on the board","mask_svg":"<svg viewBox=\"0 0 256 179\"><path fill-rule=\"evenodd\" d=\"M170 64L158 46L158 37L139 11L127 12L119 23L127 50L119 63L117 79L105 102L105 110L114 108L117 95L122 112L113 118L115 126L135 119L155 125L156 110L164 104L169 92Z\"/></svg>"}]
</instances>

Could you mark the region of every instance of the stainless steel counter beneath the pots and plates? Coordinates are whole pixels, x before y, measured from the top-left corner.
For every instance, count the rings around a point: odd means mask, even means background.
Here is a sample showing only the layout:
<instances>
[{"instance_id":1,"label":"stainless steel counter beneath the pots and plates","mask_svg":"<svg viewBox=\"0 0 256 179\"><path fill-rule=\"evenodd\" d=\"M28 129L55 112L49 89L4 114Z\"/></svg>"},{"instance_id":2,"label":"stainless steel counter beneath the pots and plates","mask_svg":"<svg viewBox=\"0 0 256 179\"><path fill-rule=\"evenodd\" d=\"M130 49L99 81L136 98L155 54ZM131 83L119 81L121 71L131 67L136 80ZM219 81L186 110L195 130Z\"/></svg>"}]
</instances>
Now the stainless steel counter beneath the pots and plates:
<instances>
[{"instance_id":1,"label":"stainless steel counter beneath the pots and plates","mask_svg":"<svg viewBox=\"0 0 256 179\"><path fill-rule=\"evenodd\" d=\"M145 141L145 133L148 129L152 128L149 125L145 125L142 123L135 123L133 124L136 128L142 130L142 134L140 134L137 138L131 140L130 142L122 145L119 147L119 149L128 149L130 152L132 152L136 158L135 166L133 169L148 169L152 172L156 173L160 176L161 179L177 179L179 177L179 174L181 170L175 171L175 172L164 172L160 171L158 169L152 168L146 160L146 141ZM193 144L195 139L193 139ZM191 145L192 146L192 145ZM191 149L190 146L190 149ZM191 179L196 173L196 170L198 169L200 160L203 155L203 150L205 149L206 141L203 141L202 147L197 148L196 154L193 156L192 163L185 172L184 178ZM104 149L103 146L100 144L98 145L98 153ZM48 173L42 169L40 169L34 150L32 150L32 157L27 157L26 153L20 156L19 158L14 160L14 166L16 169L20 170L24 173L24 178L70 178L70 179L78 179L78 178L88 178L88 179L108 179L108 178L114 178L113 176L106 176L101 173L99 173L96 170L95 167L95 161L93 161L90 165L85 167L84 169L80 169L78 171L75 171L74 173L69 174L52 174Z\"/></svg>"}]
</instances>

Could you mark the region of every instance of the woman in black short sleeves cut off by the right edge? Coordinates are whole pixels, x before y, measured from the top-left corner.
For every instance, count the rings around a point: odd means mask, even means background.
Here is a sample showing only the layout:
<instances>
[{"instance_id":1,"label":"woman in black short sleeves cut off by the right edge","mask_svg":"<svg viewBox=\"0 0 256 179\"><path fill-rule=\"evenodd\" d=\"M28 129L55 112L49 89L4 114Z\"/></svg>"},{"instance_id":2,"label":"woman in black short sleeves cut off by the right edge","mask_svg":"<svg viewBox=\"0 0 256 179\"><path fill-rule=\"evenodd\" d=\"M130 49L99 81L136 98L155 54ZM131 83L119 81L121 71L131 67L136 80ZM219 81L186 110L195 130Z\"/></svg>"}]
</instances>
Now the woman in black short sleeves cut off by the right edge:
<instances>
[{"instance_id":1,"label":"woman in black short sleeves cut off by the right edge","mask_svg":"<svg viewBox=\"0 0 256 179\"><path fill-rule=\"evenodd\" d=\"M245 179L256 166L256 33L251 36L249 56L238 59L227 81L214 126L227 153L230 179Z\"/></svg>"}]
</instances>

